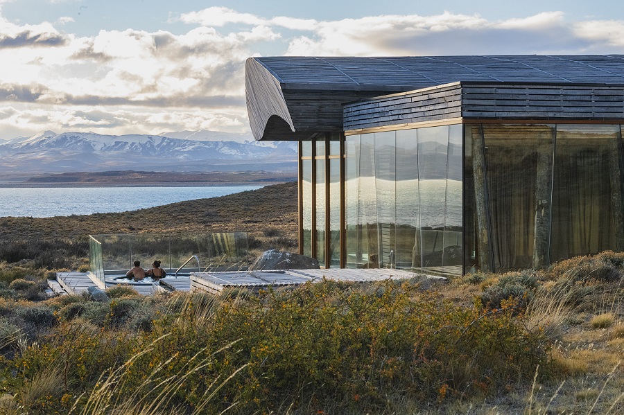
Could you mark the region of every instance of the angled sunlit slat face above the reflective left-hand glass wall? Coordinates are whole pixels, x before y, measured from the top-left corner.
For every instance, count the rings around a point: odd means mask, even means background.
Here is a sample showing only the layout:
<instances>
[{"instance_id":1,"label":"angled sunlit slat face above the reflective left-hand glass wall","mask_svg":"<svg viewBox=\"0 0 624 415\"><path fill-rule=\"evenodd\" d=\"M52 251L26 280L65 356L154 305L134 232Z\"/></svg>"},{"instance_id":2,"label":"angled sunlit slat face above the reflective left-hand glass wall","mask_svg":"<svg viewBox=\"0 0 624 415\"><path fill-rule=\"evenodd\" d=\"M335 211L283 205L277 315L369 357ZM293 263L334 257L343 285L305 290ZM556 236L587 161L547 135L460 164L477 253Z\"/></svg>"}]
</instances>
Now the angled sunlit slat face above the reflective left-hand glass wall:
<instances>
[{"instance_id":1,"label":"angled sunlit slat face above the reflective left-hand glass wall","mask_svg":"<svg viewBox=\"0 0 624 415\"><path fill-rule=\"evenodd\" d=\"M345 130L437 121L461 116L461 85L451 84L345 105Z\"/></svg>"}]
</instances>

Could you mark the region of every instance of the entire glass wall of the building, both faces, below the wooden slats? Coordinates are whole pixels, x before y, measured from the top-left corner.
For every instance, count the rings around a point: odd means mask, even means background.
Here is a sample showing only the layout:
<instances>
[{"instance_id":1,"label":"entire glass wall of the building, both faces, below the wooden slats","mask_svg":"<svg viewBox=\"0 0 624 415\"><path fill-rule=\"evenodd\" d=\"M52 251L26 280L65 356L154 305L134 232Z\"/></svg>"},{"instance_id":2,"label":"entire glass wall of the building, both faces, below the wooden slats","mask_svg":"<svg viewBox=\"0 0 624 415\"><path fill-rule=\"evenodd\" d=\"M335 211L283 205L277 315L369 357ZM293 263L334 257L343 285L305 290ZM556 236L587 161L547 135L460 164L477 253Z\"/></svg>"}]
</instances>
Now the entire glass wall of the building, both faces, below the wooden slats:
<instances>
[{"instance_id":1,"label":"entire glass wall of the building, both faces, below the wooden slats","mask_svg":"<svg viewBox=\"0 0 624 415\"><path fill-rule=\"evenodd\" d=\"M624 249L621 125L474 123L302 143L300 252L453 275Z\"/></svg>"}]
</instances>

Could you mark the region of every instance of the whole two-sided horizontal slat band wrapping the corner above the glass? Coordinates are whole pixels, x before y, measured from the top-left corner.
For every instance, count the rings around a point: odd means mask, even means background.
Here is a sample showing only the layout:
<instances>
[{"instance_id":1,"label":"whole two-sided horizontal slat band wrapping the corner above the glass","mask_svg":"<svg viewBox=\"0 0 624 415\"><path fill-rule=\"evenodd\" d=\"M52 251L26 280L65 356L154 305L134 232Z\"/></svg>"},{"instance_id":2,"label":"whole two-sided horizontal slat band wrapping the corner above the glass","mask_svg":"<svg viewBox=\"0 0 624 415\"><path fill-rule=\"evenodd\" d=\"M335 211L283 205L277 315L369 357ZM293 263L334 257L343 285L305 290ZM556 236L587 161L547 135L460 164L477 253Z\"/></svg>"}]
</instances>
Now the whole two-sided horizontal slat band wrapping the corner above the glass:
<instances>
[{"instance_id":1,"label":"whole two-sided horizontal slat band wrapping the corner above the glass","mask_svg":"<svg viewBox=\"0 0 624 415\"><path fill-rule=\"evenodd\" d=\"M345 131L424 121L624 120L624 87L460 82L363 100L344 107Z\"/></svg>"}]
</instances>

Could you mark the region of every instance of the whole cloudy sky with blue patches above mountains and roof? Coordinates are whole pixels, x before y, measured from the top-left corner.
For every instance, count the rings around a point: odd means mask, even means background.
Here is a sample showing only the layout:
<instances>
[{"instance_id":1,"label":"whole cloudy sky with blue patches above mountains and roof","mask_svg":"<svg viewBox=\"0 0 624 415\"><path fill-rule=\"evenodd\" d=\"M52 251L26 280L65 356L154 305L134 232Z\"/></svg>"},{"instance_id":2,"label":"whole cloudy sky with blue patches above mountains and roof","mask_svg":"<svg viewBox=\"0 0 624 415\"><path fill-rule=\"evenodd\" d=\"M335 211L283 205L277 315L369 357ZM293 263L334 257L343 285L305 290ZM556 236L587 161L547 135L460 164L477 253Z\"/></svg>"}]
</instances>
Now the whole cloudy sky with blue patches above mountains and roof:
<instances>
[{"instance_id":1,"label":"whole cloudy sky with blue patches above mountains and roof","mask_svg":"<svg viewBox=\"0 0 624 415\"><path fill-rule=\"evenodd\" d=\"M252 56L624 54L624 1L0 0L0 139L250 132Z\"/></svg>"}]
</instances>

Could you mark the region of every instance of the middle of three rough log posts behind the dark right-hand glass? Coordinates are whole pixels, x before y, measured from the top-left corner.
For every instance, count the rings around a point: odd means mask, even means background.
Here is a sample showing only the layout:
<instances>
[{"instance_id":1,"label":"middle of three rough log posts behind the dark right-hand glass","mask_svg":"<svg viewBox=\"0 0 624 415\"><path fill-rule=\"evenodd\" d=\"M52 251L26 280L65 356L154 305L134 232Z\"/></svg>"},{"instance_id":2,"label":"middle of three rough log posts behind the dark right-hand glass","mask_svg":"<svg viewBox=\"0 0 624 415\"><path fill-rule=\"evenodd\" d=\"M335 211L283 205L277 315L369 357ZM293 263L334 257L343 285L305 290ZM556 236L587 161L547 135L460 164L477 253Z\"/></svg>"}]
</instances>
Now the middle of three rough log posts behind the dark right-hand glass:
<instances>
[{"instance_id":1,"label":"middle of three rough log posts behind the dark right-hand glass","mask_svg":"<svg viewBox=\"0 0 624 415\"><path fill-rule=\"evenodd\" d=\"M548 266L551 234L551 194L553 187L553 136L537 136L537 183L535 184L535 233L533 269Z\"/></svg>"}]
</instances>

